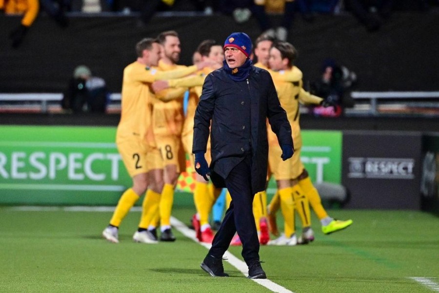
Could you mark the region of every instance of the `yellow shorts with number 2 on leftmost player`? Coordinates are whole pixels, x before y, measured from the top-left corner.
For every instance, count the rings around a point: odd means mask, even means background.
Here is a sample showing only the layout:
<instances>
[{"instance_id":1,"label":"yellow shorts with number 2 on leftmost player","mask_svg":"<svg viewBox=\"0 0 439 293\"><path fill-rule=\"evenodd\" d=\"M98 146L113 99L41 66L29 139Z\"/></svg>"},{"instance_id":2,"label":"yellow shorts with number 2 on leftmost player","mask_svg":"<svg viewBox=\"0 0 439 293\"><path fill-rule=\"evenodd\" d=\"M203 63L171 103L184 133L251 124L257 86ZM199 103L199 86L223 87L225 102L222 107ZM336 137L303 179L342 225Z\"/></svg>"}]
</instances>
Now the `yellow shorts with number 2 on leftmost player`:
<instances>
[{"instance_id":1,"label":"yellow shorts with number 2 on leftmost player","mask_svg":"<svg viewBox=\"0 0 439 293\"><path fill-rule=\"evenodd\" d=\"M151 170L147 160L151 148L146 143L133 137L123 142L117 142L116 145L123 164L131 177Z\"/></svg>"}]
</instances>

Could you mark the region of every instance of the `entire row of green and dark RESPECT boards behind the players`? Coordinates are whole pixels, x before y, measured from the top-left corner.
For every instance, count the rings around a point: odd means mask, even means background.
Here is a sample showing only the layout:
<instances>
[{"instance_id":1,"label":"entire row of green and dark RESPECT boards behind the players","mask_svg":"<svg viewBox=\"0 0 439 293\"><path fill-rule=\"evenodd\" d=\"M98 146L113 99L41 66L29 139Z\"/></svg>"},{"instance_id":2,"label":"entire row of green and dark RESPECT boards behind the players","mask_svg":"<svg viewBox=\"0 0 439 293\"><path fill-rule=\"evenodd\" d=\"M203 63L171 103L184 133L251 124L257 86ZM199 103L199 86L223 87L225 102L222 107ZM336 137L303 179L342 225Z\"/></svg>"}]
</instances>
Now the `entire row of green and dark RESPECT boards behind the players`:
<instances>
[{"instance_id":1,"label":"entire row of green and dark RESPECT boards behind the players","mask_svg":"<svg viewBox=\"0 0 439 293\"><path fill-rule=\"evenodd\" d=\"M0 133L0 205L113 206L131 185L115 126L3 125ZM324 204L438 212L438 133L302 130L302 140L301 161ZM176 206L193 206L187 167ZM275 190L272 179L269 197Z\"/></svg>"}]
</instances>

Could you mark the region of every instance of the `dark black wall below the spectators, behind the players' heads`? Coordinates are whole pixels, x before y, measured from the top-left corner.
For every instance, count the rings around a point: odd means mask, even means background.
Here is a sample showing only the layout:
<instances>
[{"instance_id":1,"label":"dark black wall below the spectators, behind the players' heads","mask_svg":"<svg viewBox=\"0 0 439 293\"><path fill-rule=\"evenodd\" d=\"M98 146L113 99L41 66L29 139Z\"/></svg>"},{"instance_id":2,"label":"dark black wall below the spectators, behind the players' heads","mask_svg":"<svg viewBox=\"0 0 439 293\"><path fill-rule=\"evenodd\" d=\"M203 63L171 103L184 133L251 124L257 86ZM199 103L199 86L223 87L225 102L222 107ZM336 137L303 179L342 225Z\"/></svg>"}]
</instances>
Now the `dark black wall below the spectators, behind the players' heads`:
<instances>
[{"instance_id":1,"label":"dark black wall below the spectators, behind the players' heads","mask_svg":"<svg viewBox=\"0 0 439 293\"><path fill-rule=\"evenodd\" d=\"M279 23L279 16L271 16ZM7 34L20 17L0 16L0 92L61 92L73 70L86 64L104 78L112 92L120 92L122 70L136 59L134 46L144 37L176 30L182 43L182 64L190 64L200 41L223 42L234 31L255 40L256 21L238 24L229 16L155 16L139 26L136 16L74 16L62 29L40 15L22 45L12 49ZM397 11L375 33L367 32L348 13L318 15L309 23L297 17L288 41L299 51L297 66L307 81L319 77L330 57L358 75L354 89L362 91L438 90L439 15L436 12Z\"/></svg>"}]
</instances>

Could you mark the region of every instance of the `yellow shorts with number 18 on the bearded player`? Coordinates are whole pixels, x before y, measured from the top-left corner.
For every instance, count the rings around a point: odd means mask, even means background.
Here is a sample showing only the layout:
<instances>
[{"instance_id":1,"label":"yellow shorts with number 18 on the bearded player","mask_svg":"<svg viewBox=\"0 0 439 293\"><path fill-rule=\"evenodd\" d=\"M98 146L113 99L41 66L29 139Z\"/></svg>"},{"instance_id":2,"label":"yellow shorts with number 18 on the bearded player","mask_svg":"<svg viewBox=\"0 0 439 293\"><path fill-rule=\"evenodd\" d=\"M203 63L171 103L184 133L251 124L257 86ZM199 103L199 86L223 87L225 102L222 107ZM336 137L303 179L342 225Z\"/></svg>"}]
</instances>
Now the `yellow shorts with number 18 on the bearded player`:
<instances>
[{"instance_id":1,"label":"yellow shorts with number 18 on the bearded player","mask_svg":"<svg viewBox=\"0 0 439 293\"><path fill-rule=\"evenodd\" d=\"M186 169L186 156L179 136L156 135L156 144L160 151L162 168L168 165L176 165L179 172Z\"/></svg>"}]
</instances>

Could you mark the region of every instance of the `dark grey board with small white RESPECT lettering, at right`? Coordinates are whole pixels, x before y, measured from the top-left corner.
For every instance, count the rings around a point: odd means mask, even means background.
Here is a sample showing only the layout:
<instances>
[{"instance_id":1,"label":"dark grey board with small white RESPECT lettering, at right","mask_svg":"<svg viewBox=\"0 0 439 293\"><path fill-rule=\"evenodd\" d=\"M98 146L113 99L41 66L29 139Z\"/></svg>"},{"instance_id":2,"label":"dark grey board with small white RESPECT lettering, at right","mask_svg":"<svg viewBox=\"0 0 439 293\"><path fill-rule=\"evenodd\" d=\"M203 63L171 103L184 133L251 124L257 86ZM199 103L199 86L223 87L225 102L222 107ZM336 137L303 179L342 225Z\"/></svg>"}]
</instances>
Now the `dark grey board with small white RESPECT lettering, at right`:
<instances>
[{"instance_id":1,"label":"dark grey board with small white RESPECT lettering, at right","mask_svg":"<svg viewBox=\"0 0 439 293\"><path fill-rule=\"evenodd\" d=\"M420 209L422 133L343 131L346 208Z\"/></svg>"}]
</instances>

